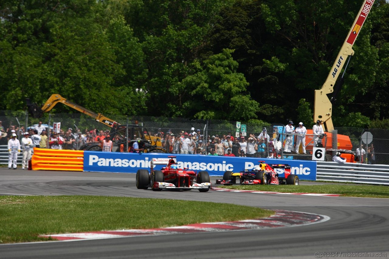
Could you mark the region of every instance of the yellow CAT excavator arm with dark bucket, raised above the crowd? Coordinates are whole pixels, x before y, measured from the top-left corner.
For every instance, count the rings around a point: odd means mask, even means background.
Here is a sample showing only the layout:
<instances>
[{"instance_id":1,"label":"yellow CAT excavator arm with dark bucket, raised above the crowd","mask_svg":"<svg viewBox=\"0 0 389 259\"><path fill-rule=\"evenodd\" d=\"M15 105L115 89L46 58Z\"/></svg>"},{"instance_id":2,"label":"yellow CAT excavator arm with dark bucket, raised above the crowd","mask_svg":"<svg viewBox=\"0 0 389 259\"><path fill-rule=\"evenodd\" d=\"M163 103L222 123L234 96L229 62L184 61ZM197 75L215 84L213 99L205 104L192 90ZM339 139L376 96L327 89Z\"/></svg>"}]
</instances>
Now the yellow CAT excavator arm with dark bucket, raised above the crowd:
<instances>
[{"instance_id":1,"label":"yellow CAT excavator arm with dark bucket, raised above the crowd","mask_svg":"<svg viewBox=\"0 0 389 259\"><path fill-rule=\"evenodd\" d=\"M92 112L91 110L88 110L78 104L68 101L67 99L63 98L59 94L52 94L50 98L47 99L46 103L42 106L42 108L39 108L38 105L36 105L35 103L31 103L31 101L27 99L27 106L28 109L30 110L30 113L33 115L33 117L40 117L44 112L49 112L52 108L54 108L54 106L57 103L63 103L64 105L67 105L70 108L78 110L83 114L89 115L95 118L96 121L101 122L107 126L110 126L111 128L117 124L116 121L113 121L112 119L105 117L103 114Z\"/></svg>"}]
</instances>

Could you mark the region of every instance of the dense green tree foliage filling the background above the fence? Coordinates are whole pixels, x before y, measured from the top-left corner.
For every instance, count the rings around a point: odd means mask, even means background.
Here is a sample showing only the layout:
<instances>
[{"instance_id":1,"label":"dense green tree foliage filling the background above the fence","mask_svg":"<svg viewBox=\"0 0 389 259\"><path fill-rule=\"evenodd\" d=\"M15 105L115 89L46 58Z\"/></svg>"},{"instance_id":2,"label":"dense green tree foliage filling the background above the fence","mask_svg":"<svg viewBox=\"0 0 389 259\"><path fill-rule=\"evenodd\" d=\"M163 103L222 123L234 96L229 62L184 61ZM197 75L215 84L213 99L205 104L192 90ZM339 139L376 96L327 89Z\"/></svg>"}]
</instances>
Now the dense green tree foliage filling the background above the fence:
<instances>
[{"instance_id":1,"label":"dense green tree foliage filling the background above the fence","mask_svg":"<svg viewBox=\"0 0 389 259\"><path fill-rule=\"evenodd\" d=\"M312 122L359 0L0 0L0 109L53 93L117 115ZM389 117L389 4L376 0L335 126ZM343 72L343 71L342 71ZM56 107L67 110L65 107Z\"/></svg>"}]
</instances>

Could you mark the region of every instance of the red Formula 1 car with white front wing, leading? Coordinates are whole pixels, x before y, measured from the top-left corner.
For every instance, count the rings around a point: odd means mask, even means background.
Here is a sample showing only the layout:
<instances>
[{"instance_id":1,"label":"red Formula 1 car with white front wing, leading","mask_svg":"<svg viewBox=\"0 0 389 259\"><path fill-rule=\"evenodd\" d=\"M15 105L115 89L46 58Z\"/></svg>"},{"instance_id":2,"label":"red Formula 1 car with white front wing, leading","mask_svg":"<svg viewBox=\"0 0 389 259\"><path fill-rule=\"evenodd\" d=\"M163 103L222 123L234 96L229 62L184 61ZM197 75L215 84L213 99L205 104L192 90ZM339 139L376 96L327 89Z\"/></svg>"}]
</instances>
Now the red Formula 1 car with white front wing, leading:
<instances>
[{"instance_id":1,"label":"red Formula 1 car with white front wing, leading","mask_svg":"<svg viewBox=\"0 0 389 259\"><path fill-rule=\"evenodd\" d=\"M154 170L154 165L166 165L162 170ZM150 174L148 170L138 170L136 185L138 189L151 187L153 191L163 189L191 190L207 192L211 189L209 174L206 171L195 173L187 168L181 169L175 156L152 158Z\"/></svg>"}]
</instances>

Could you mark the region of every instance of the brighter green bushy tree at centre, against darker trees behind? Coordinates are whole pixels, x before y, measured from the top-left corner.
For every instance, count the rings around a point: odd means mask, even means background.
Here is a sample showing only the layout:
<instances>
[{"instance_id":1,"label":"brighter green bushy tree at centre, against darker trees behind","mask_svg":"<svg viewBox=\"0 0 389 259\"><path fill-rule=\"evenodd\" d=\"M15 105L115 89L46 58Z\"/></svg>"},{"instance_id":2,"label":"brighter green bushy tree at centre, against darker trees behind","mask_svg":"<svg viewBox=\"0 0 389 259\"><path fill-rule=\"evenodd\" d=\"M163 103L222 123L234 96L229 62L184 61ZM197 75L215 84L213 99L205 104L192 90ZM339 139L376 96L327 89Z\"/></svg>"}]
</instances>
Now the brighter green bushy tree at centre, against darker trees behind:
<instances>
[{"instance_id":1,"label":"brighter green bushy tree at centre, against darker trees behind","mask_svg":"<svg viewBox=\"0 0 389 259\"><path fill-rule=\"evenodd\" d=\"M189 110L199 119L248 120L256 118L259 103L251 100L246 91L248 83L242 73L237 73L233 50L210 56L203 62L195 61L195 73L182 80L186 89L193 89ZM207 107L204 110L203 107Z\"/></svg>"}]
</instances>

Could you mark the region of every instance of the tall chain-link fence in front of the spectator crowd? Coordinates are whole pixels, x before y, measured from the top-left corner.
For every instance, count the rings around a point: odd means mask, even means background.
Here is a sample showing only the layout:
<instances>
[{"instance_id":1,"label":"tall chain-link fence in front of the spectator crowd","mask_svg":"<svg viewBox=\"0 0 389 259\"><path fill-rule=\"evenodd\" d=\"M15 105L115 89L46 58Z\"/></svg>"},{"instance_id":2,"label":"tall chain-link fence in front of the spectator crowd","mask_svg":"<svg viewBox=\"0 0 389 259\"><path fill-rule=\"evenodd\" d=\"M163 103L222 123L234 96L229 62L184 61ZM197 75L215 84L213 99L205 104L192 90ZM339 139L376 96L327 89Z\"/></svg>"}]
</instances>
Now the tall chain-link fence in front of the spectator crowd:
<instances>
[{"instance_id":1,"label":"tall chain-link fence in front of the spectator crowd","mask_svg":"<svg viewBox=\"0 0 389 259\"><path fill-rule=\"evenodd\" d=\"M246 125L246 132L237 131L236 122L222 120L191 120L185 118L151 117L151 116L107 116L121 125L138 124L144 135L158 138L158 145L161 145L168 153L188 153L188 154L231 154L235 156L251 156L258 158L289 158L289 159L312 159L313 136L307 135L307 153L300 154L295 150L296 138L293 140L292 154L284 154L285 138L283 133L285 124L250 124ZM96 121L85 114L44 114L36 119L28 115L27 112L0 111L0 121L4 132L10 133L15 129L18 138L23 137L23 132L33 129L41 121L46 128L50 125L53 128L54 122L61 122L61 137L67 140L71 138L71 144L65 144L63 149L80 149L86 143L99 141L99 135L108 135L111 128ZM45 125L46 124L46 125ZM311 125L306 126L312 129ZM1 128L1 126L0 126ZM347 149L354 152L359 163L386 164L389 165L389 130L388 129L362 129L362 128L335 128L332 139L324 138L323 142L328 142L324 146L329 149L345 149L342 138L350 145ZM265 131L264 131L265 130ZM67 131L69 133L67 133ZM263 132L264 131L264 132ZM370 133L366 133L370 132ZM2 136L5 136L5 133ZM78 134L81 133L81 134ZM187 133L187 134L186 134ZM33 134L33 132L31 132ZM128 134L128 133L127 133ZM312 134L312 133L311 133ZM48 133L50 135L50 132ZM179 142L188 136L187 144ZM345 135L345 136L342 136ZM113 137L113 136L112 136ZM121 136L128 140L140 138L141 136ZM144 137L144 136L143 136ZM73 140L74 139L74 140ZM244 139L244 140L243 140ZM252 140L251 140L252 139ZM334 141L335 139L335 141ZM336 141L337 139L337 141ZM220 140L220 142L219 142ZM7 145L8 138L0 138L0 145ZM340 144L339 144L340 143ZM277 145L281 145L280 147ZM300 145L302 146L302 145ZM277 150L276 152L271 152ZM115 149L115 151L126 151L127 147ZM128 150L130 150L128 148ZM294 152L296 151L296 152ZM331 158L333 152L327 156ZM359 156L360 155L360 156Z\"/></svg>"}]
</instances>

